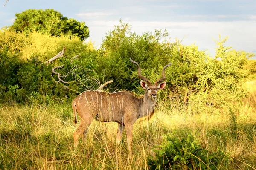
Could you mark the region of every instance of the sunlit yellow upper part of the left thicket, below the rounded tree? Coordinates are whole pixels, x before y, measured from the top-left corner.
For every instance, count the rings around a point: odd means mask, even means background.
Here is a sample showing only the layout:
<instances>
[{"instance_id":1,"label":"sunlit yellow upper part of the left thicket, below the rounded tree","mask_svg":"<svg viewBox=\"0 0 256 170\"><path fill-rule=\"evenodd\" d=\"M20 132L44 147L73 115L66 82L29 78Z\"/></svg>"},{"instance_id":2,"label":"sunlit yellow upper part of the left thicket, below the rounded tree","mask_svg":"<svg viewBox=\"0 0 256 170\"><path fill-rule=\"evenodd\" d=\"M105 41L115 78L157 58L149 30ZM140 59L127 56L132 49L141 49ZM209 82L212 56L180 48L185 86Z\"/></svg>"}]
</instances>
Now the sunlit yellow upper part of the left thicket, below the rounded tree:
<instances>
[{"instance_id":1,"label":"sunlit yellow upper part of the left thicket, below the rounded tree","mask_svg":"<svg viewBox=\"0 0 256 170\"><path fill-rule=\"evenodd\" d=\"M14 32L11 29L0 31L0 52L6 52L9 56L15 56L17 60L26 61L38 58L39 61L47 61L66 46L66 57L72 58L79 52L88 52L88 47L78 37L52 37L40 32Z\"/></svg>"}]
</instances>

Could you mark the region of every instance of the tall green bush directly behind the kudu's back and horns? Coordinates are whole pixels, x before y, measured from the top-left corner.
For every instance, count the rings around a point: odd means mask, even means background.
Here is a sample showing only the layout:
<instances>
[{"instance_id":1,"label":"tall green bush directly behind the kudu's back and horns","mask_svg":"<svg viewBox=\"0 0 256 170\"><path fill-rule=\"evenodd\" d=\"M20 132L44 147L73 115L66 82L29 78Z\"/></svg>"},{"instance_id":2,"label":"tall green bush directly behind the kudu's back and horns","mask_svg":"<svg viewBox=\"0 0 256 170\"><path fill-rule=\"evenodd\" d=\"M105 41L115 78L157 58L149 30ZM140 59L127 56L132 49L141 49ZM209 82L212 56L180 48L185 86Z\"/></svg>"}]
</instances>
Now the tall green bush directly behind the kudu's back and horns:
<instances>
[{"instance_id":1,"label":"tall green bush directly behind the kudu's back and horns","mask_svg":"<svg viewBox=\"0 0 256 170\"><path fill-rule=\"evenodd\" d=\"M159 42L168 35L166 31L162 33L155 30L154 34L145 32L143 35L136 35L130 30L131 25L120 20L120 25L107 33L99 49L97 73L104 74L105 80L113 80L110 84L113 89L134 90L139 86L139 78L134 77L135 80L131 81L132 72L137 72L137 67L129 61L129 58L140 64L143 75L146 75L144 70L168 64L163 53L163 43ZM160 72L154 73L153 80L158 78Z\"/></svg>"}]
</instances>

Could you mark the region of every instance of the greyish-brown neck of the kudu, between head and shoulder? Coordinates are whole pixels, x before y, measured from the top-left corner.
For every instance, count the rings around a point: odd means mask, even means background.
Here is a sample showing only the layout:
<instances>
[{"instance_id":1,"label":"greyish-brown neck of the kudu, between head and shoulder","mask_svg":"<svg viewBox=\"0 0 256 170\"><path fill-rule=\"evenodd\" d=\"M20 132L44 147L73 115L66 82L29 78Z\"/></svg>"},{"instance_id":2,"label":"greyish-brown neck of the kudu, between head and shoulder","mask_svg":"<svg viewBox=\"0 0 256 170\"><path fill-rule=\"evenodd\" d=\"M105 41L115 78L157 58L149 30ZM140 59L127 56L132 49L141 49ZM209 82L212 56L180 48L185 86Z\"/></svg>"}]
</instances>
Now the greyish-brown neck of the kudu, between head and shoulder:
<instances>
[{"instance_id":1,"label":"greyish-brown neck of the kudu, between head and shoulder","mask_svg":"<svg viewBox=\"0 0 256 170\"><path fill-rule=\"evenodd\" d=\"M140 115L138 118L141 118L144 116L150 116L151 114L153 114L156 101L157 101L156 98L154 98L154 100L152 100L148 96L148 90L147 90L144 94L144 97L140 98L140 100L139 100Z\"/></svg>"}]
</instances>

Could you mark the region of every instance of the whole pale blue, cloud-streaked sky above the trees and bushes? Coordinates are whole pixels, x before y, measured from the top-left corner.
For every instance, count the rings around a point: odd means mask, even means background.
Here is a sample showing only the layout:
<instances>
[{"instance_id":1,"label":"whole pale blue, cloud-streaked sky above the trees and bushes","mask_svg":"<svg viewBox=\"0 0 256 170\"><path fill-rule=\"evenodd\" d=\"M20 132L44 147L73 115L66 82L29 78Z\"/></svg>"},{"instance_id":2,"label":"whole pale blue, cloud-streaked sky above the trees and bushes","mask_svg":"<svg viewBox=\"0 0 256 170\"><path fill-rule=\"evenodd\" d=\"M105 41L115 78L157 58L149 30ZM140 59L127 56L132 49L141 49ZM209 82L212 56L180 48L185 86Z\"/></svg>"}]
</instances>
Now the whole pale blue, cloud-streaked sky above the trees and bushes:
<instances>
[{"instance_id":1,"label":"whole pale blue, cloud-streaked sky above the trees and bushes","mask_svg":"<svg viewBox=\"0 0 256 170\"><path fill-rule=\"evenodd\" d=\"M256 53L256 0L9 0L0 5L0 27L10 26L15 13L26 9L55 9L64 17L84 21L98 47L106 32L122 19L142 34L166 29L171 40L195 43L215 52L215 42L228 36L227 46ZM254 57L256 58L256 57Z\"/></svg>"}]
</instances>

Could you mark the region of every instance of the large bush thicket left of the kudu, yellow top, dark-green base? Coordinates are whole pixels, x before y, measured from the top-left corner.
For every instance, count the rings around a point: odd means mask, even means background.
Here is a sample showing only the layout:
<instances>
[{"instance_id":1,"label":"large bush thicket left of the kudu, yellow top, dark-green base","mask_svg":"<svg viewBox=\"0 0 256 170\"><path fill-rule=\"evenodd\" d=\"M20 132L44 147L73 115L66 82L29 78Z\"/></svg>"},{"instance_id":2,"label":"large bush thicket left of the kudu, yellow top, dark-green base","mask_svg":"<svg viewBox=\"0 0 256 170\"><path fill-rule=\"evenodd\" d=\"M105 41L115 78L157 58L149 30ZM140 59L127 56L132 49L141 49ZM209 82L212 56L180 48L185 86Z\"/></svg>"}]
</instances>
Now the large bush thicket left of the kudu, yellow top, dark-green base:
<instances>
[{"instance_id":1,"label":"large bush thicket left of the kudu, yellow top, dark-green base","mask_svg":"<svg viewBox=\"0 0 256 170\"><path fill-rule=\"evenodd\" d=\"M89 49L78 38L49 37L39 32L25 36L24 33L11 30L3 30L0 37L1 101L30 103L35 98L66 101L66 98L72 100L77 91L99 87L99 76L95 73L98 52ZM58 54L63 46L66 46L64 57L47 67L44 62ZM80 59L72 59L79 53ZM52 67L60 65L64 67L56 71L67 75L62 79L70 84L57 82L57 75L52 75ZM18 85L19 88L14 93L8 89L9 85ZM71 91L64 86L68 86Z\"/></svg>"}]
</instances>

